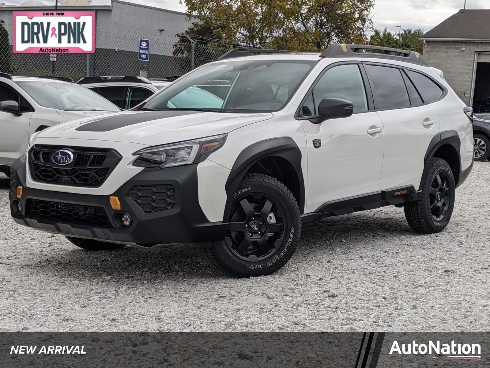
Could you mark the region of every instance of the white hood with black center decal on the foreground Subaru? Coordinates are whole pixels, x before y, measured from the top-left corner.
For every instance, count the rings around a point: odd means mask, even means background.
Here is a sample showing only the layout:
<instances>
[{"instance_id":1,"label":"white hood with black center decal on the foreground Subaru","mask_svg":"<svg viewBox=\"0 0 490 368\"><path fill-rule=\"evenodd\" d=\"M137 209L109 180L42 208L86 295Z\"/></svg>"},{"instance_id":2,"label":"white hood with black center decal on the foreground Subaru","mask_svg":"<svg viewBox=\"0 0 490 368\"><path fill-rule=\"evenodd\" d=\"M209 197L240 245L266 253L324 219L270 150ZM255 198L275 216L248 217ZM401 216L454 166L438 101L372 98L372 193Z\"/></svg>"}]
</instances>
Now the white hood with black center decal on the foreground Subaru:
<instances>
[{"instance_id":1,"label":"white hood with black center decal on the foreground Subaru","mask_svg":"<svg viewBox=\"0 0 490 368\"><path fill-rule=\"evenodd\" d=\"M123 111L58 124L42 131L36 138L106 140L156 146L228 133L271 117L271 113Z\"/></svg>"}]
</instances>

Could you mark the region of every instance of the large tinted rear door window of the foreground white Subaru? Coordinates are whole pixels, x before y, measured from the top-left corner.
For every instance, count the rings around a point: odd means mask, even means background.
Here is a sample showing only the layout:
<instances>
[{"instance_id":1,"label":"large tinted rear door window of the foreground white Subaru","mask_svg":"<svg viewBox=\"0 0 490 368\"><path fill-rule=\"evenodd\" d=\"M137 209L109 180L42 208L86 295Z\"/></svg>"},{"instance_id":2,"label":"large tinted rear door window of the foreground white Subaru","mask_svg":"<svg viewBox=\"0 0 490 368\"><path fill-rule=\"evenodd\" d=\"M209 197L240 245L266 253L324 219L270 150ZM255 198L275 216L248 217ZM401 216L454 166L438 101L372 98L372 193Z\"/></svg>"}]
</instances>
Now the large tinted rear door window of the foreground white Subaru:
<instances>
[{"instance_id":1,"label":"large tinted rear door window of the foreground white Subaru","mask_svg":"<svg viewBox=\"0 0 490 368\"><path fill-rule=\"evenodd\" d=\"M366 65L372 92L376 99L376 109L395 109L410 107L407 87L401 71L379 65Z\"/></svg>"}]
</instances>

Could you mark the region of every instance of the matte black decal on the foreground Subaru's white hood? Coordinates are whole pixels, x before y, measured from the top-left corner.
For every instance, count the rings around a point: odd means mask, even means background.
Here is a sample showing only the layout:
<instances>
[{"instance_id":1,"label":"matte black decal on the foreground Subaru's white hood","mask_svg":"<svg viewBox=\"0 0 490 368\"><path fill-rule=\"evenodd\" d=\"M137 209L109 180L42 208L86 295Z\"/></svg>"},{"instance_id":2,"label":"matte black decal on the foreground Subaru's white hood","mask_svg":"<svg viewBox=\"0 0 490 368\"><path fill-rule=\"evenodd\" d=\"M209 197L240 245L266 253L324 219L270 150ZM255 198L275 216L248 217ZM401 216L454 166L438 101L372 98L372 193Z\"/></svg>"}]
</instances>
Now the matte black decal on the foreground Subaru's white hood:
<instances>
[{"instance_id":1,"label":"matte black decal on the foreground Subaru's white hood","mask_svg":"<svg viewBox=\"0 0 490 368\"><path fill-rule=\"evenodd\" d=\"M84 124L75 129L75 131L113 131L115 129L128 127L130 125L144 123L146 121L171 118L174 116L183 116L197 114L199 111L185 110L166 110L166 111L142 111L136 114L125 114L108 117L100 117L97 121Z\"/></svg>"}]
</instances>

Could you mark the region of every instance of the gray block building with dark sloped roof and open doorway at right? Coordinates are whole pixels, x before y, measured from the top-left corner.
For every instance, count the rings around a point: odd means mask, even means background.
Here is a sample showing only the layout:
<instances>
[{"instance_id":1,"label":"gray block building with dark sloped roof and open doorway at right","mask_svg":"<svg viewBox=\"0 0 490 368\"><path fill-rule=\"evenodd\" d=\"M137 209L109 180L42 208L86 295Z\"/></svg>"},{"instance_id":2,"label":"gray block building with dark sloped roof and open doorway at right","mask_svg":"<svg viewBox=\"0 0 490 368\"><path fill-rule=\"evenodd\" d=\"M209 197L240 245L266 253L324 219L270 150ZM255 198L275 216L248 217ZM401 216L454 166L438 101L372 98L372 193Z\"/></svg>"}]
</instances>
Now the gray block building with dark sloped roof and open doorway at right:
<instances>
[{"instance_id":1,"label":"gray block building with dark sloped roof and open doorway at right","mask_svg":"<svg viewBox=\"0 0 490 368\"><path fill-rule=\"evenodd\" d=\"M428 31L423 55L475 111L490 99L490 9L461 9Z\"/></svg>"}]
</instances>

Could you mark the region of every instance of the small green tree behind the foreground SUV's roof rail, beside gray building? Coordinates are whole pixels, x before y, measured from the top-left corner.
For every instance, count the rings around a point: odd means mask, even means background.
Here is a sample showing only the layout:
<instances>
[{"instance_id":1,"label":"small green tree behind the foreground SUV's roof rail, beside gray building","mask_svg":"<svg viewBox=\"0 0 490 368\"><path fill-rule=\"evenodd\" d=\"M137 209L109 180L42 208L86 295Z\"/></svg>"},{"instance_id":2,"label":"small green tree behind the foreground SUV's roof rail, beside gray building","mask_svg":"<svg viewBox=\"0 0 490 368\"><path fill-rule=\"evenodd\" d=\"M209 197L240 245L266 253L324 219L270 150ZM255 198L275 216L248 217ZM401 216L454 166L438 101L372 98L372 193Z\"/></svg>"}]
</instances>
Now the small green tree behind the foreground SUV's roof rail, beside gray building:
<instances>
[{"instance_id":1,"label":"small green tree behind the foreground SUV's roof rail, beside gray building","mask_svg":"<svg viewBox=\"0 0 490 368\"><path fill-rule=\"evenodd\" d=\"M419 38L423 36L424 30L417 28L403 29L401 34L389 32L387 28L383 31L376 29L369 38L369 45L392 47L395 49L412 50L422 53L424 43Z\"/></svg>"}]
</instances>

